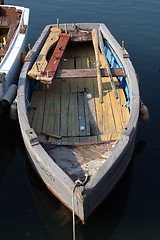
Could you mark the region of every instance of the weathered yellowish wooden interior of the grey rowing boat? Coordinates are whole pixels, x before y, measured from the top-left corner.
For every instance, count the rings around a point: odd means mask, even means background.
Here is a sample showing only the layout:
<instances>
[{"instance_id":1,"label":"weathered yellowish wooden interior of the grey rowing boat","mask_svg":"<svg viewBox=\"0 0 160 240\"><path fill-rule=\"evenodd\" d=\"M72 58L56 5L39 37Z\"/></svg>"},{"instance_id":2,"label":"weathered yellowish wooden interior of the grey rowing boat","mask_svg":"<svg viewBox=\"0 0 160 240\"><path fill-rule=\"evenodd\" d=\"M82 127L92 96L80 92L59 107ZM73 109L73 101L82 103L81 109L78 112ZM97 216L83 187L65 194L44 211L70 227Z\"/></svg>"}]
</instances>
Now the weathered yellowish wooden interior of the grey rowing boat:
<instances>
[{"instance_id":1,"label":"weathered yellowish wooden interior of the grey rowing boat","mask_svg":"<svg viewBox=\"0 0 160 240\"><path fill-rule=\"evenodd\" d=\"M39 67L42 69L44 62L48 64L55 49L55 45L50 47L53 34L51 32L48 36L28 73L29 82L33 85L28 119L42 146L62 169L68 168L67 173L75 180L78 168L78 176L88 172L93 175L103 165L118 143L130 113L124 106L127 99L118 76L113 77L117 99L109 77L102 77L103 102L100 102L91 32L87 34L87 41L84 36L79 41L69 41L51 84L36 80L35 72ZM81 35L85 34L81 32ZM104 69L101 52L99 58L100 68ZM89 76L85 74L87 69L90 70ZM85 77L79 77L78 73L84 73ZM77 147L72 147L72 143ZM58 148L54 147L56 144Z\"/></svg>"}]
</instances>

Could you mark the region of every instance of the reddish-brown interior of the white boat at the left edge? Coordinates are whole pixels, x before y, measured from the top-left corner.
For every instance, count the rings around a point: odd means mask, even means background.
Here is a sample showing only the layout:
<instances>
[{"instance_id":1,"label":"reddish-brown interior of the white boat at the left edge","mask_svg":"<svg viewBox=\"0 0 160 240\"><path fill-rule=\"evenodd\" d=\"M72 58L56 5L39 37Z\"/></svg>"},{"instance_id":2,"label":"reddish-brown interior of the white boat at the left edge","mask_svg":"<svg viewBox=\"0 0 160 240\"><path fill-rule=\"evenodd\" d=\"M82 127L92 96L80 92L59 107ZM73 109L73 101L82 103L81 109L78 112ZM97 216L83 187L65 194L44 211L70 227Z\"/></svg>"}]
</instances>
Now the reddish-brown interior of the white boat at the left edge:
<instances>
[{"instance_id":1,"label":"reddish-brown interior of the white boat at the left edge","mask_svg":"<svg viewBox=\"0 0 160 240\"><path fill-rule=\"evenodd\" d=\"M14 38L21 15L22 11L15 7L0 7L0 62Z\"/></svg>"}]
</instances>

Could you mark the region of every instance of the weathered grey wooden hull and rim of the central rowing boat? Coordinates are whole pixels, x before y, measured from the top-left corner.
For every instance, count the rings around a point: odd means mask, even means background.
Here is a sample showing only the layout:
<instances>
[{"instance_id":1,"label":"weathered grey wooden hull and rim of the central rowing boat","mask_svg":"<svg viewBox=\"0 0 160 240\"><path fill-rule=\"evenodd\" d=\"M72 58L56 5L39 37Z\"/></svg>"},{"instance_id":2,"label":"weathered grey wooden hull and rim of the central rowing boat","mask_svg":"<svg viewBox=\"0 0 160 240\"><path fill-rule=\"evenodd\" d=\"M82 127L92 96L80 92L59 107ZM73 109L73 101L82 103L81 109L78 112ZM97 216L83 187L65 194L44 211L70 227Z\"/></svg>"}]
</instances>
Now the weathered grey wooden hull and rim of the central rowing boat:
<instances>
[{"instance_id":1,"label":"weathered grey wooden hull and rim of the central rowing boat","mask_svg":"<svg viewBox=\"0 0 160 240\"><path fill-rule=\"evenodd\" d=\"M139 116L139 88L135 70L129 59L128 53L121 48L106 26L104 24L77 24L77 26L83 30L93 28L100 29L109 48L114 49L115 56L121 65L123 65L127 76L127 90L125 91L126 95L129 94L128 99L130 107L128 123L123 127L120 138L116 143L116 147L114 146L112 154L110 154L107 161L96 171L96 174L94 174L85 186L79 186L75 189L74 211L82 222L84 222L110 193L122 177L131 160ZM40 144L38 136L32 129L27 115L26 95L29 94L27 72L31 69L31 66L36 60L51 27L54 27L54 25L46 26L40 38L26 56L19 78L18 117L24 143L35 170L48 189L64 205L73 210L72 194L75 187L75 181L53 161L43 145ZM63 24L60 25L60 27L65 29L65 25ZM73 25L68 24L68 30L72 28ZM105 144L107 143L105 142Z\"/></svg>"}]
</instances>

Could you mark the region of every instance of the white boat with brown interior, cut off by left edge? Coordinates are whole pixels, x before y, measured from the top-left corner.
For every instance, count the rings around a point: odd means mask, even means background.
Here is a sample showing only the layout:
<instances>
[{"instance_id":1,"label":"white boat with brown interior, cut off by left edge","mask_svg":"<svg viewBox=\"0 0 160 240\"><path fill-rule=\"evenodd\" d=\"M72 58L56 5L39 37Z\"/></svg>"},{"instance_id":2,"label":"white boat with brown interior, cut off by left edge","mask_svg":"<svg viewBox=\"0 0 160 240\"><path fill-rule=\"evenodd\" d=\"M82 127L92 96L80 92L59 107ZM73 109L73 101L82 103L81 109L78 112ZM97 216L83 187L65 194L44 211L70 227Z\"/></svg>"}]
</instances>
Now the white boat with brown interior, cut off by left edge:
<instances>
[{"instance_id":1,"label":"white boat with brown interior, cut off by left edge","mask_svg":"<svg viewBox=\"0 0 160 240\"><path fill-rule=\"evenodd\" d=\"M0 115L16 96L28 21L28 8L0 5Z\"/></svg>"}]
</instances>

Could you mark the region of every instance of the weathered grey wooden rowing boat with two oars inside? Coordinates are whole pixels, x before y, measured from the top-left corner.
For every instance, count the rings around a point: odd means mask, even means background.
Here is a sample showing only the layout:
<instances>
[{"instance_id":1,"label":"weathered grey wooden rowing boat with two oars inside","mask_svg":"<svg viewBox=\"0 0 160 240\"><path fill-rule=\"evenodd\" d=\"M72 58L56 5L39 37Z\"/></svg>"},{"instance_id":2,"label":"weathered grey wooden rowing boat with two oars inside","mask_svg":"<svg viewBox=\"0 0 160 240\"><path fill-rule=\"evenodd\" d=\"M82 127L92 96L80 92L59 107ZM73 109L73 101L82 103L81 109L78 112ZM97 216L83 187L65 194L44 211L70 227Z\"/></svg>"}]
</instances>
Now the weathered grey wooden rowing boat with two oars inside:
<instances>
[{"instance_id":1,"label":"weathered grey wooden rowing boat with two oars inside","mask_svg":"<svg viewBox=\"0 0 160 240\"><path fill-rule=\"evenodd\" d=\"M47 25L19 78L18 117L31 163L84 222L127 168L139 87L104 24Z\"/></svg>"}]
</instances>

